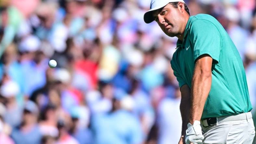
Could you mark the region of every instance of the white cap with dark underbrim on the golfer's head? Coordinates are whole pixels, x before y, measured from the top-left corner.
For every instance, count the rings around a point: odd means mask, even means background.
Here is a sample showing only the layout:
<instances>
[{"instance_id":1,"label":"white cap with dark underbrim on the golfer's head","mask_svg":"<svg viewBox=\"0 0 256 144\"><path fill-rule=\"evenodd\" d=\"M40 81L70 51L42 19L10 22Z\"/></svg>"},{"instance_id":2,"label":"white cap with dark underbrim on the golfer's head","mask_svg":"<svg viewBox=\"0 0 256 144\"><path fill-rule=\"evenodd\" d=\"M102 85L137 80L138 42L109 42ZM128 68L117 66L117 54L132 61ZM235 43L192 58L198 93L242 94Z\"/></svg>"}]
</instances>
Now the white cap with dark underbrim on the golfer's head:
<instances>
[{"instance_id":1,"label":"white cap with dark underbrim on the golfer's head","mask_svg":"<svg viewBox=\"0 0 256 144\"><path fill-rule=\"evenodd\" d=\"M153 11L155 11L157 9L160 9L160 8L166 6L167 4L171 3L171 2L183 2L183 3L185 3L183 0L151 0L150 10L147 11L144 14L144 21L146 23L150 23L150 22L154 21Z\"/></svg>"}]
</instances>

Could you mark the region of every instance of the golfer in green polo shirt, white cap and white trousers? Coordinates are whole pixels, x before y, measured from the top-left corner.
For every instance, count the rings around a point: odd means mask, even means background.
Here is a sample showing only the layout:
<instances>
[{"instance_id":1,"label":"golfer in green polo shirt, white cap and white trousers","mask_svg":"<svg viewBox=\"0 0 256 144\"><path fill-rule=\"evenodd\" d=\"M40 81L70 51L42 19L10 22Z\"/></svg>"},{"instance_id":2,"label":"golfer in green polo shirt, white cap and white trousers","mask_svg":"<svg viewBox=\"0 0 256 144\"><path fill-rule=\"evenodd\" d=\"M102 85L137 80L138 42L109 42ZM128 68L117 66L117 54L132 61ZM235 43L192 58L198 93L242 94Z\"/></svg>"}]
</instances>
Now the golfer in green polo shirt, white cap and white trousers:
<instances>
[{"instance_id":1,"label":"golfer in green polo shirt, white cap and white trousers","mask_svg":"<svg viewBox=\"0 0 256 144\"><path fill-rule=\"evenodd\" d=\"M243 63L222 25L210 15L190 16L183 0L151 0L144 21L154 20L178 38L171 66L182 94L179 143L252 143Z\"/></svg>"}]
</instances>

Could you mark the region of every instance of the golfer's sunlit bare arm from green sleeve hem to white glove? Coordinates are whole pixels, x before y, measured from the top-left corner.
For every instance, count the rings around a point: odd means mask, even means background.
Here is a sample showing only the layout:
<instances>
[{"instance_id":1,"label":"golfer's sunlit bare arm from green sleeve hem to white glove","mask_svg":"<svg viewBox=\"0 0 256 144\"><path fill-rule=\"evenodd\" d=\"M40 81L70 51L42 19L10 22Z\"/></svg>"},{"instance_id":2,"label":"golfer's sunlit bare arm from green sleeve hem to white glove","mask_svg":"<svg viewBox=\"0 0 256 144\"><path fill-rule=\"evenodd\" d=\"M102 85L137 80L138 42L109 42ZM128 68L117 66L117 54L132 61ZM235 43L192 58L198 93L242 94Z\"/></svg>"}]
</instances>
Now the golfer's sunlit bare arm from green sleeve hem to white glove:
<instances>
[{"instance_id":1,"label":"golfer's sunlit bare arm from green sleeve hem to white glove","mask_svg":"<svg viewBox=\"0 0 256 144\"><path fill-rule=\"evenodd\" d=\"M211 90L211 66L212 58L209 55L201 55L195 63L194 74L191 82L191 103L189 123L200 121L204 104Z\"/></svg>"}]
</instances>

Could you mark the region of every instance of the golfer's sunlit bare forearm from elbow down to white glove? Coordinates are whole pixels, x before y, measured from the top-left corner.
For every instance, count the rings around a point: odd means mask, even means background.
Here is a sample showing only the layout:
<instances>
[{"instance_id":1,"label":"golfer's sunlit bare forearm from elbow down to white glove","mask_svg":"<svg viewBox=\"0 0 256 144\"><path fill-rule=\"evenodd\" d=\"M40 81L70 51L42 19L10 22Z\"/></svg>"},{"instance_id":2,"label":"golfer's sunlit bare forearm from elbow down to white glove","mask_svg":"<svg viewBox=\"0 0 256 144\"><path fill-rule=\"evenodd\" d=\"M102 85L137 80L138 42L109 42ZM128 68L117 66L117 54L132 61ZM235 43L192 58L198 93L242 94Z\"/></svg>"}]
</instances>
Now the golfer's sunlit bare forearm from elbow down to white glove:
<instances>
[{"instance_id":1,"label":"golfer's sunlit bare forearm from elbow down to white glove","mask_svg":"<svg viewBox=\"0 0 256 144\"><path fill-rule=\"evenodd\" d=\"M204 104L211 90L211 73L202 73L195 69L192 78L191 105L189 122L193 125L195 120L200 121Z\"/></svg>"}]
</instances>

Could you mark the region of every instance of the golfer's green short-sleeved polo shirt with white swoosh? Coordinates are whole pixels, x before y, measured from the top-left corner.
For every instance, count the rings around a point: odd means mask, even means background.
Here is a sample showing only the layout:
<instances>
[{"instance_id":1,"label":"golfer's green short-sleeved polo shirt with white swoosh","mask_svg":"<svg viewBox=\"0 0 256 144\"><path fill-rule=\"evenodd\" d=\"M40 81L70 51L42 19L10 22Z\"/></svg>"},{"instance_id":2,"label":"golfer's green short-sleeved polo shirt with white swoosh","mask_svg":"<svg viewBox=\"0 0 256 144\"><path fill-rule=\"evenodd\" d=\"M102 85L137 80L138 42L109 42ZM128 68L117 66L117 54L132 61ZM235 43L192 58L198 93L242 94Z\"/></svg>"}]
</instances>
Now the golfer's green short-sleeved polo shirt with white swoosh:
<instances>
[{"instance_id":1,"label":"golfer's green short-sleeved polo shirt with white swoosh","mask_svg":"<svg viewBox=\"0 0 256 144\"><path fill-rule=\"evenodd\" d=\"M222 25L212 16L191 16L183 42L177 41L171 66L179 87L191 81L196 59L209 54L212 83L201 119L249 112L252 109L242 59Z\"/></svg>"}]
</instances>

